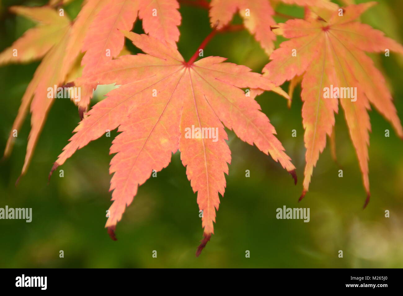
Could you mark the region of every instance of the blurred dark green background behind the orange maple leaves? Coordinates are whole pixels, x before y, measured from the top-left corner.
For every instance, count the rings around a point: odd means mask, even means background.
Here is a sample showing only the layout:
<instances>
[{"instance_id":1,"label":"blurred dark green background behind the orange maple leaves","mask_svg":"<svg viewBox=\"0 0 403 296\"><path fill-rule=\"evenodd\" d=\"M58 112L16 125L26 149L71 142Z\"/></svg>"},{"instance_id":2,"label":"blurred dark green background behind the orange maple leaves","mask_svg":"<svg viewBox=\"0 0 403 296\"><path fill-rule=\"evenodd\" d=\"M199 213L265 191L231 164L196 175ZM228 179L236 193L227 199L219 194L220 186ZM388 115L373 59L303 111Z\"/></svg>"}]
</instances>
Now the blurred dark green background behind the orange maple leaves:
<instances>
[{"instance_id":1,"label":"blurred dark green background behind the orange maple leaves","mask_svg":"<svg viewBox=\"0 0 403 296\"><path fill-rule=\"evenodd\" d=\"M340 4L340 2L338 2ZM0 4L1 48L34 24L10 14L11 5L42 5L44 1L2 0ZM81 1L66 6L75 17ZM303 8L280 4L277 11L303 17ZM403 2L381 1L362 21L402 42ZM181 4L179 51L189 59L210 32L208 12ZM285 21L276 17L276 21ZM235 17L239 23L239 17ZM137 21L135 31L141 32ZM277 44L282 39L278 39ZM132 48L130 48L132 49ZM260 72L268 62L259 44L247 31L218 34L204 50L205 56L224 56ZM384 72L403 119L402 57L374 55ZM17 114L21 97L39 62L0 68L0 151ZM58 66L58 65L55 65ZM288 83L283 85L288 89ZM105 90L105 89L104 89ZM201 220L180 155L157 178L150 178L117 226L112 241L104 224L110 206L108 192L111 159L110 138L102 137L77 151L60 169L64 178L47 178L52 163L79 122L77 108L68 99L56 99L37 144L28 173L15 187L25 156L29 118L18 133L9 159L0 163L0 207L33 209L31 223L0 220L0 267L403 267L403 142L391 125L370 111L371 201L362 205L365 190L358 161L349 138L343 110L336 116L338 164L329 145L314 170L310 191L297 203L302 191L305 147L301 119L300 86L291 109L282 97L266 92L257 100L276 127L278 139L297 167L299 182L271 157L237 139L232 131L232 161L226 176L226 193L217 212L215 234L199 258L195 250L202 239ZM97 91L96 99L101 99ZM291 137L291 130L297 137ZM391 130L384 137L384 130ZM343 169L344 177L338 177ZM250 178L245 178L250 170ZM278 207L309 207L310 222L278 220ZM390 218L384 217L385 210ZM64 258L59 258L59 251ZM158 253L152 257L153 250ZM250 258L245 258L245 251ZM343 250L344 257L338 258Z\"/></svg>"}]
</instances>

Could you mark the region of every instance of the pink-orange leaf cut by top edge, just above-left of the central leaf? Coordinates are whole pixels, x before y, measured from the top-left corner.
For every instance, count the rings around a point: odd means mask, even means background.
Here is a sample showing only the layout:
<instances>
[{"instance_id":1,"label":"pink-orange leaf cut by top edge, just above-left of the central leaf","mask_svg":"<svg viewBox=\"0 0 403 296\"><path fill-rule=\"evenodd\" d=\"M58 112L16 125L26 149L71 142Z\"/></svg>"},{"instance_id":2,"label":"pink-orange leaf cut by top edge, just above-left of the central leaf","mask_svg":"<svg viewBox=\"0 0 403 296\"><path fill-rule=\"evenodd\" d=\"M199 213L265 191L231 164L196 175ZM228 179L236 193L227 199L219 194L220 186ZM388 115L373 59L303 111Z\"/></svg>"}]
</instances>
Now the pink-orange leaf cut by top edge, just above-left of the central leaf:
<instances>
[{"instance_id":1,"label":"pink-orange leaf cut by top edge, just above-left of the central leaf","mask_svg":"<svg viewBox=\"0 0 403 296\"><path fill-rule=\"evenodd\" d=\"M125 36L120 30L130 31L137 19L143 21L145 33L169 42L176 47L179 39L181 14L177 0L101 0L102 9L91 23L84 39L83 76L97 72L97 68L107 60L116 58L124 46ZM81 87L81 100L78 102L80 114L87 108L97 81L78 85Z\"/></svg>"}]
</instances>

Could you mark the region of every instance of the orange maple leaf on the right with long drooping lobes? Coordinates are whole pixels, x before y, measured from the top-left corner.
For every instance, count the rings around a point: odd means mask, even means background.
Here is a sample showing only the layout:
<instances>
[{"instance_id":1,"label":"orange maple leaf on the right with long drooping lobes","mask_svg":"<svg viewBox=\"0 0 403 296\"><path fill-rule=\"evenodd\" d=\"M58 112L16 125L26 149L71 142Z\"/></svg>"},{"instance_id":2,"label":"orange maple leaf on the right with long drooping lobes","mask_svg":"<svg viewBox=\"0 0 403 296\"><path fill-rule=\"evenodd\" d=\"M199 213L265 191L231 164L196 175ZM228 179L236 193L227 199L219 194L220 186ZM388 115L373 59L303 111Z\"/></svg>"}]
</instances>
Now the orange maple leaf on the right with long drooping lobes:
<instances>
[{"instance_id":1,"label":"orange maple leaf on the right with long drooping lobes","mask_svg":"<svg viewBox=\"0 0 403 296\"><path fill-rule=\"evenodd\" d=\"M264 68L264 76L276 85L302 75L302 117L305 129L306 166L303 193L308 191L314 166L326 146L326 135L332 135L334 112L338 112L337 97L325 98L325 87L333 89L356 87L355 99L340 97L357 152L359 166L367 192L364 208L370 197L368 178L368 145L371 129L367 110L370 103L393 125L399 137L403 130L393 105L392 95L381 72L365 52L385 49L403 54L403 47L381 31L355 21L374 2L351 5L340 12L325 12L326 17L289 20L277 25L280 33L291 40L274 50ZM293 55L293 51L296 55ZM312 59L312 57L315 57ZM341 94L341 93L340 93ZM355 100L355 101L354 101Z\"/></svg>"}]
</instances>

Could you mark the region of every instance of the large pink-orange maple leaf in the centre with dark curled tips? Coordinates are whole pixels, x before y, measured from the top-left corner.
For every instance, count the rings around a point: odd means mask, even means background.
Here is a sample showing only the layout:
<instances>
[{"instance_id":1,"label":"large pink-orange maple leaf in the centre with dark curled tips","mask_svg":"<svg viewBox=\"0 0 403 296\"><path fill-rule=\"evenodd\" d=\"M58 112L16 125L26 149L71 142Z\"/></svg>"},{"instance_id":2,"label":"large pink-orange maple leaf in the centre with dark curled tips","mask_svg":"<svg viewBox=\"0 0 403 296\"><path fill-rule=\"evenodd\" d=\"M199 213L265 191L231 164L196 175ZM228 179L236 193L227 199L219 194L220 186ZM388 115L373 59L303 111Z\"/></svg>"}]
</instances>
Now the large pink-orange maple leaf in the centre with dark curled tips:
<instances>
[{"instance_id":1,"label":"large pink-orange maple leaf in the centre with dark curled tips","mask_svg":"<svg viewBox=\"0 0 403 296\"><path fill-rule=\"evenodd\" d=\"M197 255L214 233L213 222L224 195L231 153L224 125L250 145L270 154L296 180L295 167L285 154L276 131L259 104L240 88L273 90L288 97L279 87L246 66L209 56L197 62L197 54L185 62L176 47L148 35L122 31L146 54L126 55L98 67L88 79L119 88L93 106L73 132L54 163L52 172L77 149L118 127L112 141L110 162L112 205L105 227L114 229L125 208L133 201L139 185L168 166L178 149L181 160L203 211L204 239ZM198 52L197 52L198 53ZM87 79L87 78L81 78ZM77 81L82 83L80 79ZM223 125L224 124L224 125ZM208 128L215 138L190 136L190 129ZM206 135L206 134L204 134ZM49 177L50 177L49 176Z\"/></svg>"}]
</instances>

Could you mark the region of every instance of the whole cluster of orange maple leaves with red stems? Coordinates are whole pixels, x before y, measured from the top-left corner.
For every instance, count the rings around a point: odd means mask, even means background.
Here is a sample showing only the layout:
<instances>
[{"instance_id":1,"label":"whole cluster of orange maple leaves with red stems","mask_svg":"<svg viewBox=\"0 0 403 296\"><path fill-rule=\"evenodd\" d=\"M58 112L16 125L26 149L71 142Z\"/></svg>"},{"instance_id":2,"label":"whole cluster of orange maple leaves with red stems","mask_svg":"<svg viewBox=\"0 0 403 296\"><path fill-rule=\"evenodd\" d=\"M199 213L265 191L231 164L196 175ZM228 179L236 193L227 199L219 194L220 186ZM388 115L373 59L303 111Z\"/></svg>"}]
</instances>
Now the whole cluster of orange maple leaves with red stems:
<instances>
[{"instance_id":1,"label":"whole cluster of orange maple leaves with red stems","mask_svg":"<svg viewBox=\"0 0 403 296\"><path fill-rule=\"evenodd\" d=\"M31 131L21 175L25 174L35 144L54 98L48 87L79 87L77 104L81 122L55 161L50 175L90 141L117 128L112 141L109 172L112 205L105 227L115 238L116 224L137 194L138 187L153 171L168 166L178 150L187 178L197 193L203 211L204 239L197 255L214 233L216 210L223 196L231 163L231 151L224 126L239 139L256 145L280 163L297 182L295 166L276 138L276 130L260 111L255 97L274 91L291 97L280 85L301 81L302 118L305 129L305 171L301 200L309 189L314 167L334 136L334 113L344 110L351 140L361 168L367 205L370 196L368 145L371 129L368 110L374 106L403 137L401 122L391 91L366 52L385 49L403 54L403 47L381 31L360 23L360 15L374 2L339 8L328 0L282 0L305 7L304 19L276 24L269 0L86 0L78 16L70 20L60 14L63 2L42 7L13 6L16 14L37 25L0 54L0 64L42 59L29 83L11 130L19 130L28 111ZM65 1L64 1L65 2ZM212 33L195 48L186 61L177 49L181 24L179 4L209 9ZM199 50L217 33L231 30L233 15L239 12L243 27L260 43L270 62L263 74L246 66L225 62L226 58L199 58ZM145 34L131 32L136 19ZM289 39L275 48L276 35ZM125 38L143 53L130 54ZM14 55L14 49L18 55ZM60 67L54 67L54 64ZM115 83L105 99L89 108L97 85ZM355 100L325 97L324 88L350 88ZM245 91L246 90L246 91ZM292 92L292 91L291 91ZM290 92L290 93L291 93ZM340 102L340 103L339 103ZM187 128L217 130L217 139L187 137ZM5 156L10 155L12 132ZM50 177L50 176L49 176Z\"/></svg>"}]
</instances>

